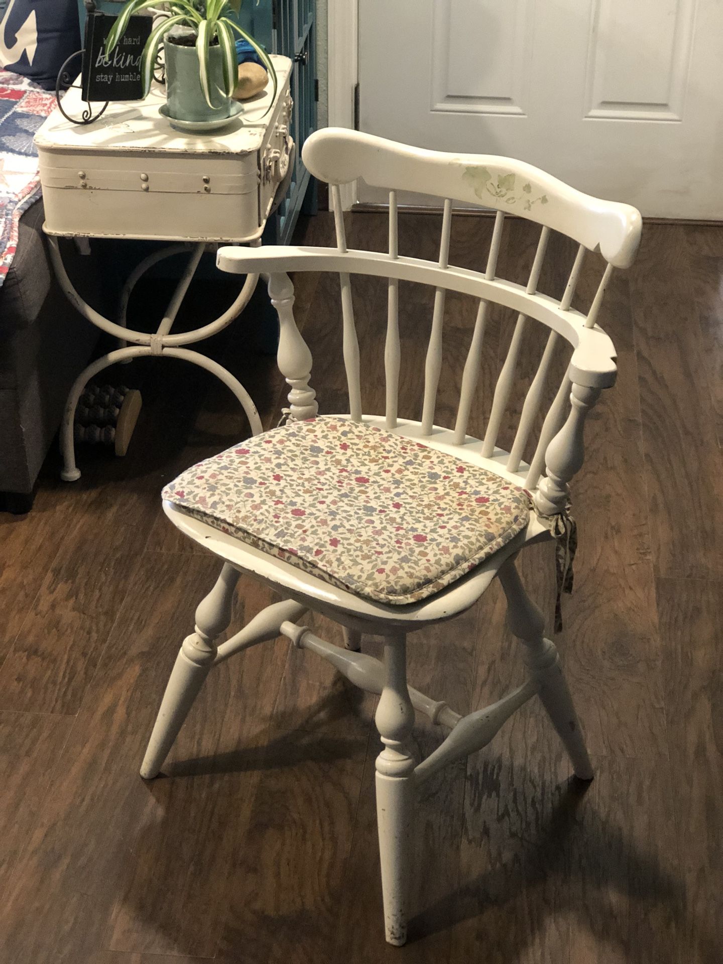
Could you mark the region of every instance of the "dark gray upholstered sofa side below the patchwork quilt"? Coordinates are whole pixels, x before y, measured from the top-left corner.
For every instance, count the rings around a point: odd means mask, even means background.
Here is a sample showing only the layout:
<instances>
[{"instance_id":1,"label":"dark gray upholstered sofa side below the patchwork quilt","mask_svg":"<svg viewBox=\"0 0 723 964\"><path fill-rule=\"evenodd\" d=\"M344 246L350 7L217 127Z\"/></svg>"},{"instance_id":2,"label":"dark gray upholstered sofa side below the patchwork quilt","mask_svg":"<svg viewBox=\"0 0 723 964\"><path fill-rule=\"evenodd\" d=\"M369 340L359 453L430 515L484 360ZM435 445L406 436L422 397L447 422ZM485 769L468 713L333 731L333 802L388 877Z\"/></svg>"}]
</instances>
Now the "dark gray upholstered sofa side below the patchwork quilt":
<instances>
[{"instance_id":1,"label":"dark gray upholstered sofa side below the patchwork quilt","mask_svg":"<svg viewBox=\"0 0 723 964\"><path fill-rule=\"evenodd\" d=\"M19 223L17 251L0 287L0 511L27 512L68 389L88 363L99 332L58 286L42 233L42 201ZM63 241L68 274L103 309L102 246L79 254Z\"/></svg>"}]
</instances>

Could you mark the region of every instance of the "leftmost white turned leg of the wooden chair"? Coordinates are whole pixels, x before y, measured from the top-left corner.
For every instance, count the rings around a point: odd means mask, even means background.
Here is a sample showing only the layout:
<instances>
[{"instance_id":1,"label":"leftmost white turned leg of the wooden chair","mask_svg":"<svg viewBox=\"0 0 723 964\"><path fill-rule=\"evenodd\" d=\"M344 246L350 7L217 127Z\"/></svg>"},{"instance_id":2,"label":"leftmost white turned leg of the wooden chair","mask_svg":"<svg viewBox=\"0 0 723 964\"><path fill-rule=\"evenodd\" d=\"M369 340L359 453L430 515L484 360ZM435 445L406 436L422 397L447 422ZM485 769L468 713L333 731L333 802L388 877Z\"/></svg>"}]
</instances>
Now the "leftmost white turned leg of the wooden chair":
<instances>
[{"instance_id":1,"label":"leftmost white turned leg of the wooden chair","mask_svg":"<svg viewBox=\"0 0 723 964\"><path fill-rule=\"evenodd\" d=\"M213 589L199 603L196 610L196 631L186 636L178 651L171 679L166 686L161 708L148 740L146 756L141 765L141 776L145 780L151 780L158 775L203 681L208 676L217 653L215 640L231 621L231 604L239 575L226 563Z\"/></svg>"}]
</instances>

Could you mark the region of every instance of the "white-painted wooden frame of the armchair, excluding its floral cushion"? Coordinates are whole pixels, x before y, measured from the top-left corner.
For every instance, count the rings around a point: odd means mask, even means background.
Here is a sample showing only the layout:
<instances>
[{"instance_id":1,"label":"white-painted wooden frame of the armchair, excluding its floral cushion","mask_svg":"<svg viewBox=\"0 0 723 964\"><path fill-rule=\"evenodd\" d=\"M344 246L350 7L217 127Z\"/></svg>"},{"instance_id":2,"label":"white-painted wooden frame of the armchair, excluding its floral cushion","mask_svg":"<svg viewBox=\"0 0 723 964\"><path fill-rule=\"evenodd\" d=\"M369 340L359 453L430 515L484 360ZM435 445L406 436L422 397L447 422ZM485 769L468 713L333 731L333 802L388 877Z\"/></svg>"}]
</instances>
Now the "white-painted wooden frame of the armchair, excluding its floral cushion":
<instances>
[{"instance_id":1,"label":"white-painted wooden frame of the armchair, excluding its floral cushion","mask_svg":"<svg viewBox=\"0 0 723 964\"><path fill-rule=\"evenodd\" d=\"M344 309L344 362L350 388L351 414L347 417L362 418L369 425L387 427L395 434L414 439L439 451L455 455L463 462L482 466L513 483L522 484L525 475L532 478L532 486L537 484L537 475L546 469L537 492L536 503L546 514L560 513L564 510L569 495L569 482L582 463L582 427L584 417L603 388L615 380L615 349L610 339L597 325L590 325L589 319L571 308L576 280L582 266L585 249L599 247L610 263L629 264L638 243L640 220L637 212L625 205L613 204L587 198L566 185L555 181L542 172L532 173L532 169L519 162L490 157L460 158L456 155L440 155L430 151L416 150L413 147L394 145L388 141L369 138L351 131L325 130L312 135L305 148L305 160L313 174L333 182L333 197L336 210L340 212L339 185L356 177L363 176L368 183L387 185L392 192L390 198L389 248L387 253L350 251L344 233L343 218L336 217L335 248L271 248L238 249L224 248L218 253L219 266L238 274L268 274L270 291L274 304L279 310L281 321L281 345L279 367L291 386L289 394L290 415L305 418L316 413L313 388L310 388L311 356L308 346L296 328L293 317L293 286L289 281L289 271L332 271L342 278L342 291L345 286L351 299L351 278L355 274L366 274L387 279L388 287L388 338L385 351L385 371L388 377L387 404L385 415L362 415L359 402L359 361L357 351L349 350L356 343L353 331L352 313ZM510 166L512 165L512 169ZM473 168L483 167L489 172L488 178L475 178L469 184L463 174ZM515 179L510 178L514 173ZM502 180L499 179L499 174ZM530 280L526 287L504 281L496 276L497 252L500 248L503 227L502 211L514 206L507 203L508 194L517 185L517 178L523 177L521 204L515 205L523 217L539 221L543 232L538 254L535 258ZM493 180L494 178L494 180ZM504 178L507 178L506 180ZM492 249L487 259L487 269L479 271L457 268L448 263L451 221L451 200L465 191L488 190L492 184L492 200L498 209ZM524 185L529 183L529 192ZM534 191L533 191L534 186ZM423 261L398 253L396 211L394 198L397 190L403 187L417 187L427 193L437 193L448 199L444 206L442 243L439 259ZM544 192L548 201L532 203L538 198L536 192ZM457 192L457 193L455 193ZM496 194L495 194L496 192ZM529 195L529 208L524 198ZM545 255L545 242L548 230L566 230L584 245L576 256L570 281L562 302L557 302L536 291L540 268ZM609 278L605 273L603 283L596 296L594 308L600 308L604 284ZM393 286L391 282L394 282ZM424 416L421 422L400 417L397 412L397 390L399 378L400 345L398 335L397 298L398 281L416 281L431 285L436 289L435 316L432 325L432 338L426 358L426 379L424 388ZM439 308L440 296L446 291L459 291L470 295L480 302L474 333L471 335L469 355L463 377L460 410L455 430L445 429L434 423L434 399L437 394L440 359L442 352L443 311ZM513 308L526 319L545 325L550 332L548 349L541 362L538 378L533 381L528 399L525 402L521 432L516 442L514 458L496 447L495 442L483 450L482 442L467 436L471 399L476 382L476 369L479 366L484 332L485 311L488 303ZM348 306L347 306L348 308ZM313 318L308 321L313 324ZM520 326L522 328L522 325ZM352 340L352 339L355 340ZM540 383L547 379L551 352L555 341L567 341L573 349L572 360L563 383L552 403L545 420L542 437L538 442L532 467L522 461L522 448L531 431L533 414L537 411L541 397ZM522 339L513 352L516 362L522 351ZM357 346L358 348L358 346ZM508 375L514 377L516 364L508 366ZM507 376L505 376L507 379ZM499 389L499 397L508 394L507 385ZM565 419L568 396L572 397L572 411ZM500 403L501 404L501 403ZM496 436L496 430L493 432ZM528 474L527 474L528 473ZM302 650L326 659L350 682L361 686L368 692L379 694L379 704L375 716L377 729L382 739L383 749L376 760L377 816L381 853L382 885L384 894L385 927L390 944L401 945L406 940L409 917L409 887L414 874L411 840L414 836L415 792L420 783L437 773L447 763L463 759L476 752L494 738L499 728L523 703L539 695L543 707L557 733L562 739L575 767L576 774L582 779L590 779L592 769L585 750L576 711L560 669L559 658L553 644L544 635L544 621L537 607L526 596L522 583L514 567L514 558L525 546L549 540L549 530L532 516L526 531L504 549L500 549L490 559L477 567L465 579L452 583L442 592L419 603L405 606L392 606L374 603L339 589L312 576L301 569L291 566L271 553L240 543L228 533L192 518L170 503L164 503L164 511L183 533L194 539L205 549L218 555L227 566L235 570L257 576L265 583L281 590L290 602L277 603L277 607L267 610L264 618L263 633L253 629L242 630L227 644L233 652L253 645L261 635L276 631L277 625L293 644ZM226 570L225 570L226 572ZM442 701L420 693L407 683L406 640L407 633L423 626L448 620L475 603L490 582L499 576L508 601L508 619L513 633L522 641L524 663L528 679L517 689L512 690L492 706L473 710L467 716L450 709ZM345 648L336 647L326 640L300 626L293 615L294 607L299 610L311 608L335 619L344 628ZM286 607L286 608L284 608ZM222 607L223 608L223 607ZM283 612L290 612L277 623ZM162 752L170 746L165 731L177 731L181 718L193 694L198 691L199 673L207 672L207 667L223 655L213 654L210 637L215 631L216 622L211 629L201 634L202 657L196 656L198 672L190 673L185 667L188 657L184 656L184 672L178 670L174 681L174 699L180 709L174 710L172 702L168 716L170 724L161 726L158 743L161 750L151 754L152 772ZM201 624L199 624L201 626ZM201 632L197 628L197 636ZM384 663L358 652L364 633L381 635L384 638ZM194 643L194 653L199 644ZM211 651L210 654L208 651ZM229 650L230 652L230 650ZM179 657L180 658L180 657ZM176 671L174 670L174 673ZM185 689L184 689L185 687ZM187 690L191 695L188 696ZM171 697L169 697L171 700ZM418 762L412 749L412 730L414 711L425 713L431 720L446 726L450 733L441 746L426 760ZM155 736L155 735L154 735ZM173 736L170 737L171 740Z\"/></svg>"}]
</instances>

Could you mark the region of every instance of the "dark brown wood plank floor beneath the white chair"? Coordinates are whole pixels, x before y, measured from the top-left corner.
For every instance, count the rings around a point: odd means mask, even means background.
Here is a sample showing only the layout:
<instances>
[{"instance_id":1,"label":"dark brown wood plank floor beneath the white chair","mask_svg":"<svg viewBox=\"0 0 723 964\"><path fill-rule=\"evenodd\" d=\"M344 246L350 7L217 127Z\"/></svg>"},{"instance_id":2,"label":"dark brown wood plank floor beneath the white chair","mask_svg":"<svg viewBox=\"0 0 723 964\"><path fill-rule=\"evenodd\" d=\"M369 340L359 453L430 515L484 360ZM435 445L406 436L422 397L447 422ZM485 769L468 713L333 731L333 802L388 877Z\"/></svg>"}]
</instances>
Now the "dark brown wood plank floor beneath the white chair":
<instances>
[{"instance_id":1,"label":"dark brown wood plank floor beneath the white chair","mask_svg":"<svg viewBox=\"0 0 723 964\"><path fill-rule=\"evenodd\" d=\"M436 216L404 215L400 249L433 256L439 228ZM355 247L386 242L382 215L350 216L348 230ZM488 219L458 219L450 261L482 265L490 234ZM299 238L331 241L329 216L305 222ZM533 232L513 222L500 272L522 280L533 253ZM543 290L559 296L573 254L555 239ZM583 303L599 269L586 259ZM297 281L312 382L322 411L339 411L337 281ZM138 776L175 652L217 570L162 517L160 489L247 427L198 369L158 360L121 369L119 381L145 398L128 456L82 450L83 478L67 486L52 453L32 514L0 517L0 961L721 960L721 281L723 228L650 226L600 319L620 376L590 419L575 486L576 593L559 639L597 778L576 783L542 713L527 705L486 751L425 785L403 950L388 948L382 927L374 703L314 656L277 640L224 663L165 775ZM380 410L386 291L383 281L355 283L364 405ZM186 323L207 300L200 286ZM418 416L430 299L402 284L401 303L402 409ZM468 301L450 296L441 421L453 416L473 317ZM493 312L477 434L513 322ZM271 425L281 379L273 360L250 353L251 324L236 323L208 349ZM522 386L541 335L530 331ZM521 401L512 399L513 414ZM510 416L502 442L512 425ZM551 569L549 547L522 559L549 614ZM270 599L242 579L237 621ZM313 626L339 641L328 621ZM365 646L376 652L378 641ZM462 712L522 678L495 585L410 649L415 684ZM440 738L417 720L423 752Z\"/></svg>"}]
</instances>

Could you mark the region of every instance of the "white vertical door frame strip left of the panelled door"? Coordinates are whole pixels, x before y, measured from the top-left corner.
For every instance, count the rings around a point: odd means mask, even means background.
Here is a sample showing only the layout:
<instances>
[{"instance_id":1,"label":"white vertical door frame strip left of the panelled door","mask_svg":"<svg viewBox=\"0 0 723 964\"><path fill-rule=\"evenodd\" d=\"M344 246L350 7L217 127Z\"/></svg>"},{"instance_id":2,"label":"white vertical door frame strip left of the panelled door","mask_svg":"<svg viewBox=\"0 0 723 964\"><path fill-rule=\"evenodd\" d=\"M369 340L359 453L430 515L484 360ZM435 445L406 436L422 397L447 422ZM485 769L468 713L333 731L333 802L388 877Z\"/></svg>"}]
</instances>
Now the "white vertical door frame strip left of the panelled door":
<instances>
[{"instance_id":1,"label":"white vertical door frame strip left of the panelled door","mask_svg":"<svg viewBox=\"0 0 723 964\"><path fill-rule=\"evenodd\" d=\"M354 96L359 81L358 0L329 0L329 126L354 127ZM357 183L341 188L341 205L348 211L357 201Z\"/></svg>"}]
</instances>

